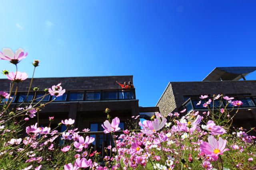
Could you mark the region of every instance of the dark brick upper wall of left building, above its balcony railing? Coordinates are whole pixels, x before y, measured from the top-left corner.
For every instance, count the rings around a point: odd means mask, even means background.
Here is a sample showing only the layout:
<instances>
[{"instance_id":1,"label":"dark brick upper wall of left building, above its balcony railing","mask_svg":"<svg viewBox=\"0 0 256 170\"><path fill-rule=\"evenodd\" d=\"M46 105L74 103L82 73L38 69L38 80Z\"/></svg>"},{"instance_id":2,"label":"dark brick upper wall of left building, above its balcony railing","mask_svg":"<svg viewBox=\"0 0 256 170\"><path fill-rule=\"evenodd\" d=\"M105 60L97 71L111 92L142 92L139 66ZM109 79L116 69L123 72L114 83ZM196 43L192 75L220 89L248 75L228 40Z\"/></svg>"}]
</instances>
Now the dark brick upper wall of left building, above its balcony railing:
<instances>
[{"instance_id":1,"label":"dark brick upper wall of left building, above its balcony railing","mask_svg":"<svg viewBox=\"0 0 256 170\"><path fill-rule=\"evenodd\" d=\"M66 90L101 90L120 88L116 80L120 83L132 81L133 76L95 76L95 77L56 77L56 78L34 78L32 87L39 87L40 90L49 88L62 82L62 87ZM19 91L28 90L30 78L19 83ZM0 79L0 90L10 90L10 80Z\"/></svg>"}]
</instances>

